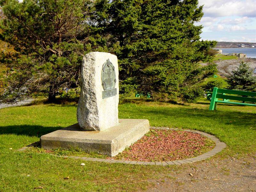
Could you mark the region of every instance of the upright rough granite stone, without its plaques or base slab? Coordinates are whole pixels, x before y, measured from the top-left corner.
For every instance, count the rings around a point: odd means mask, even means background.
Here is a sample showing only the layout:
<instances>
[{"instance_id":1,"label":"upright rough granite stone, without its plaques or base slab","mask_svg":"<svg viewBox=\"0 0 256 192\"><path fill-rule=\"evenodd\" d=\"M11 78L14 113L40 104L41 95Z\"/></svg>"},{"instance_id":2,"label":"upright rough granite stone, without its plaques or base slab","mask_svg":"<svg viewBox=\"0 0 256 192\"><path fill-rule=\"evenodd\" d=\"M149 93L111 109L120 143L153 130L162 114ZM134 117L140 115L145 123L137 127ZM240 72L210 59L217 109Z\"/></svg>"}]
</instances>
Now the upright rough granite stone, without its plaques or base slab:
<instances>
[{"instance_id":1,"label":"upright rough granite stone, without its plaques or base slab","mask_svg":"<svg viewBox=\"0 0 256 192\"><path fill-rule=\"evenodd\" d=\"M116 95L102 99L103 64L109 59L116 74ZM117 57L106 52L90 52L84 56L81 69L81 93L77 106L77 121L83 130L103 131L118 124Z\"/></svg>"}]
</instances>

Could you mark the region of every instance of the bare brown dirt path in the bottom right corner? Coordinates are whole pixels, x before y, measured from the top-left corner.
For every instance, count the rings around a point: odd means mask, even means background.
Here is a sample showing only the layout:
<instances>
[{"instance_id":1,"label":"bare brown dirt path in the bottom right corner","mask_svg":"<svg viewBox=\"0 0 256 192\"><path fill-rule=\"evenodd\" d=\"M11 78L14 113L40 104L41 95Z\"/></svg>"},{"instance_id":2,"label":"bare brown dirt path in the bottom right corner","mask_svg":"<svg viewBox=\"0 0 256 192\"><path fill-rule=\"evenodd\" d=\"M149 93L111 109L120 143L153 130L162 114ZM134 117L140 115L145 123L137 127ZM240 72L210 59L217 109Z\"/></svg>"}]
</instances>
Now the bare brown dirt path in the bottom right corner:
<instances>
[{"instance_id":1,"label":"bare brown dirt path in the bottom right corner","mask_svg":"<svg viewBox=\"0 0 256 192\"><path fill-rule=\"evenodd\" d=\"M170 174L169 177L173 179L154 181L155 187L148 191L256 191L256 159L206 160L186 165L185 170Z\"/></svg>"}]
</instances>

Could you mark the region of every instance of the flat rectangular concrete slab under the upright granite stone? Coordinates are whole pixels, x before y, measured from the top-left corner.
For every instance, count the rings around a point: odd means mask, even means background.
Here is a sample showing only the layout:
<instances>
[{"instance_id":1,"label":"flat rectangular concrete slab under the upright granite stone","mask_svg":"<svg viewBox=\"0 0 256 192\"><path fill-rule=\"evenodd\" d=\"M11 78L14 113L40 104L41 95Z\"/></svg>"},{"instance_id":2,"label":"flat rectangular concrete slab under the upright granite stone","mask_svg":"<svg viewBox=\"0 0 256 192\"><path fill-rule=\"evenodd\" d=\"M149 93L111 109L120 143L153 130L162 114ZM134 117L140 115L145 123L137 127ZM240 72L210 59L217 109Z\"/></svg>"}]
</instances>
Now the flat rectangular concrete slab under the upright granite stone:
<instances>
[{"instance_id":1,"label":"flat rectangular concrete slab under the upright granite stone","mask_svg":"<svg viewBox=\"0 0 256 192\"><path fill-rule=\"evenodd\" d=\"M45 149L80 148L86 152L116 156L149 131L147 119L119 119L119 123L104 131L82 131L78 124L41 136Z\"/></svg>"}]
</instances>

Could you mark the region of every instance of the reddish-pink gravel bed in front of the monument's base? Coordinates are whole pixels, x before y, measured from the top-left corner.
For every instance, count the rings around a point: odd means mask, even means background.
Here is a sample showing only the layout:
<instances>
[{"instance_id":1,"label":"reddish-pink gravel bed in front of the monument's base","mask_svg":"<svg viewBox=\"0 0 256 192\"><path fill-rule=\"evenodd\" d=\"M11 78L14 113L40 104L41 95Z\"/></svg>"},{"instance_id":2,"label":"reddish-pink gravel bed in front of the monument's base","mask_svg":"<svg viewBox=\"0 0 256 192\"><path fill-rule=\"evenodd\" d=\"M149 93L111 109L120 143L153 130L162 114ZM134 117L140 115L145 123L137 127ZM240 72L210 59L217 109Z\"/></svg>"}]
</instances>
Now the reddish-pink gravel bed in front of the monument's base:
<instances>
[{"instance_id":1,"label":"reddish-pink gravel bed in front of the monument's base","mask_svg":"<svg viewBox=\"0 0 256 192\"><path fill-rule=\"evenodd\" d=\"M130 161L173 161L202 154L215 143L198 133L152 129L122 153L110 159ZM204 153L203 152L203 153Z\"/></svg>"}]
</instances>

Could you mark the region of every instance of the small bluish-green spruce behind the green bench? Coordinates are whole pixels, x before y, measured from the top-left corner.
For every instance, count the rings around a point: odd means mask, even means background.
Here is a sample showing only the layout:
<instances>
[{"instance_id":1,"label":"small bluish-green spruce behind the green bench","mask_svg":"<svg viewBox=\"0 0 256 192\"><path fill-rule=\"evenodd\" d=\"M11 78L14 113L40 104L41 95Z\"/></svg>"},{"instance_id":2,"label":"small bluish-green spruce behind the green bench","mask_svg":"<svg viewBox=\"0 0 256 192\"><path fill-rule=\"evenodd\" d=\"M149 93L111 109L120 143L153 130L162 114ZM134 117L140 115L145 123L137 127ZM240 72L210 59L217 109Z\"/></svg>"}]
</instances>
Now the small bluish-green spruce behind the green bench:
<instances>
[{"instance_id":1,"label":"small bluish-green spruce behind the green bench","mask_svg":"<svg viewBox=\"0 0 256 192\"><path fill-rule=\"evenodd\" d=\"M239 67L232 71L232 75L227 76L229 89L240 91L256 91L256 76L247 63L241 62Z\"/></svg>"}]
</instances>

